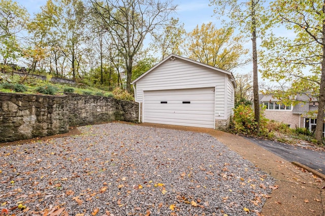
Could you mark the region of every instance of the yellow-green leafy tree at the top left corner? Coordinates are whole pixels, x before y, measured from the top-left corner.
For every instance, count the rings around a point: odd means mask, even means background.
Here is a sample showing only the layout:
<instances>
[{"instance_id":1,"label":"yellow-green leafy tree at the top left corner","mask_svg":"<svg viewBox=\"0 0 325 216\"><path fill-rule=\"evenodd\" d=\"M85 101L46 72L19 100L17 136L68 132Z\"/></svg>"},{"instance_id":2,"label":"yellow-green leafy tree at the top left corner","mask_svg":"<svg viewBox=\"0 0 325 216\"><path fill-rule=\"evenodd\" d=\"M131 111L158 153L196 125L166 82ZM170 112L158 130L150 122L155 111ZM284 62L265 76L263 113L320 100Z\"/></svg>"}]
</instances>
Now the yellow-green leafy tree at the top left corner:
<instances>
[{"instance_id":1,"label":"yellow-green leafy tree at the top left corner","mask_svg":"<svg viewBox=\"0 0 325 216\"><path fill-rule=\"evenodd\" d=\"M29 20L27 10L11 0L0 0L0 54L4 64L16 60L21 48L17 34L23 30Z\"/></svg>"}]
</instances>

